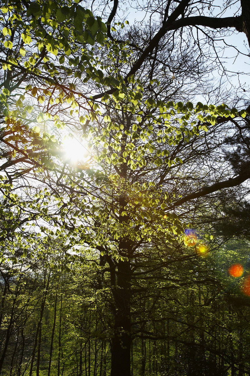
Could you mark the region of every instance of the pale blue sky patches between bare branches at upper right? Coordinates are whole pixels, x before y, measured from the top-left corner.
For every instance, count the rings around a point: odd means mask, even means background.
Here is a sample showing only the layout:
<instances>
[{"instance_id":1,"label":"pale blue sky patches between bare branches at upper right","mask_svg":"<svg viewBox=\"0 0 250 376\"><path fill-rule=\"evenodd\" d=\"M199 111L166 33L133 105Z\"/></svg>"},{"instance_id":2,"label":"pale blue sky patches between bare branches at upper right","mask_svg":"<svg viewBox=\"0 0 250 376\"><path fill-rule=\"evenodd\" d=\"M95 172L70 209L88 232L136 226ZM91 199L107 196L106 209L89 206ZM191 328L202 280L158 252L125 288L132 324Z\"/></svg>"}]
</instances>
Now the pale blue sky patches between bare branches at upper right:
<instances>
[{"instance_id":1,"label":"pale blue sky patches between bare branches at upper right","mask_svg":"<svg viewBox=\"0 0 250 376\"><path fill-rule=\"evenodd\" d=\"M149 3L155 4L160 3L160 1L144 1L144 0L130 0L128 2L119 1L117 16L114 21L118 20L128 20L130 26L135 23L147 23L149 18L151 20L157 21L159 15L157 13L145 12L140 9L140 6L147 6ZM239 6L240 1L232 1L232 5L222 12L223 0L214 0L210 3L214 6L205 8L204 15L211 17L212 15L218 17L232 17L234 15L240 15ZM93 3L92 3L93 4ZM94 5L99 6L100 1L96 0ZM113 2L109 1L105 3L110 9L113 7ZM90 4L89 4L90 5ZM164 8L164 7L163 7ZM94 8L93 8L94 9ZM222 13L222 14L220 14ZM107 10L108 14L108 10ZM195 15L195 13L192 13ZM106 21L103 16L103 20ZM126 26L126 27L130 27ZM249 58L249 45L247 42L247 37L244 33L239 33L236 30L229 29L229 35L223 38L217 38L216 47L217 53L222 62L222 66L218 67L213 71L210 78L213 80L215 85L223 84L224 90L226 92L231 91L231 99L237 98L240 100L238 106L245 106L244 101L248 101L250 93L250 58ZM220 40L219 40L220 39ZM227 46L228 45L228 46ZM230 47L233 46L233 47ZM225 48L224 48L225 47ZM208 61L208 66L211 65L211 61ZM223 71L223 69L226 71ZM198 99L201 100L202 98ZM229 99L228 99L229 100ZM204 100L203 100L204 102ZM230 103L232 104L233 101ZM235 102L236 103L236 102Z\"/></svg>"}]
</instances>

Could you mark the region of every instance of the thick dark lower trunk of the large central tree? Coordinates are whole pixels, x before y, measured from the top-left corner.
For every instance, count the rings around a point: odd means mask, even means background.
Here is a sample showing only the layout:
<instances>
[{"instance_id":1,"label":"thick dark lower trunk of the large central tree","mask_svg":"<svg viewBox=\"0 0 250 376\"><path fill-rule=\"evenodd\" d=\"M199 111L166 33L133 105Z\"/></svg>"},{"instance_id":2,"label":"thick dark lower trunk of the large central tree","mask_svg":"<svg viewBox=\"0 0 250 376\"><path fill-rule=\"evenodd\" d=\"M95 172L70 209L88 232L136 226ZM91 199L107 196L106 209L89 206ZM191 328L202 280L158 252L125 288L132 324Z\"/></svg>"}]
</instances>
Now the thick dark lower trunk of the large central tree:
<instances>
[{"instance_id":1,"label":"thick dark lower trunk of the large central tree","mask_svg":"<svg viewBox=\"0 0 250 376\"><path fill-rule=\"evenodd\" d=\"M114 337L111 343L111 376L131 376L130 347L130 264L128 261L118 262L117 285L113 287L115 301Z\"/></svg>"}]
</instances>

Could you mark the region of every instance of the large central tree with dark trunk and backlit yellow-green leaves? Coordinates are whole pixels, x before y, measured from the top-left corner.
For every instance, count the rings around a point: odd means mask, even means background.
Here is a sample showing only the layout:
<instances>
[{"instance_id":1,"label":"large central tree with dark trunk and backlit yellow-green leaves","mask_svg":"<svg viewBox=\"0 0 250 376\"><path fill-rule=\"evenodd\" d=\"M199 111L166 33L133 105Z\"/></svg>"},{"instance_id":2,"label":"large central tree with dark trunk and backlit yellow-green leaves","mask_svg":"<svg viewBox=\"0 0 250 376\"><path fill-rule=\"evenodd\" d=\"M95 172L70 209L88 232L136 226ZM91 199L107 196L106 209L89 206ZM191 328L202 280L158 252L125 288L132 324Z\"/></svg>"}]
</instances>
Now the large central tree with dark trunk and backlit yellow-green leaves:
<instances>
[{"instance_id":1,"label":"large central tree with dark trunk and backlit yellow-green leaves","mask_svg":"<svg viewBox=\"0 0 250 376\"><path fill-rule=\"evenodd\" d=\"M19 249L24 255L37 247L43 252L55 236L66 249L81 244L99 252L100 275L109 275L112 294L112 376L130 375L134 280L193 258L183 244L184 230L192 227L185 220L187 206L194 213L195 199L213 200L217 191L249 178L248 170L234 177L230 165L221 173L209 163L195 173L206 159L219 163L214 135L225 124L234 129L235 118L247 124L247 111L174 103L166 95L168 80L141 71L166 27L182 20L188 5L183 0L176 6L139 57L126 43L107 39L102 20L77 3L2 8L3 259L16 262L19 255L11 254ZM60 134L49 134L63 127L80 133L88 162L73 164ZM37 224L42 237L31 237L28 223ZM169 244L169 253L156 252L159 239Z\"/></svg>"}]
</instances>

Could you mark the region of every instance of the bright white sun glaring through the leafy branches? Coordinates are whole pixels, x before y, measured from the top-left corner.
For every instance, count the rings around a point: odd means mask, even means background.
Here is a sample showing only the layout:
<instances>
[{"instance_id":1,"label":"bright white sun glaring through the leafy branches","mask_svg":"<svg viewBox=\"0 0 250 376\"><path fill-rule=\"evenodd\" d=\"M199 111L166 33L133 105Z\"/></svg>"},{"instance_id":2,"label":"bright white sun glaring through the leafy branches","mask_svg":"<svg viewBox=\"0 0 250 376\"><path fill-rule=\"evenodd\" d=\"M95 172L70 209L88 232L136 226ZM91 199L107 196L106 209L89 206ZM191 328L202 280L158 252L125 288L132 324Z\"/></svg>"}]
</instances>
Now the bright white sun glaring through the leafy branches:
<instances>
[{"instance_id":1,"label":"bright white sun glaring through the leafy branches","mask_svg":"<svg viewBox=\"0 0 250 376\"><path fill-rule=\"evenodd\" d=\"M75 137L65 138L62 144L63 159L70 164L87 162L90 152L84 145L82 139Z\"/></svg>"}]
</instances>

